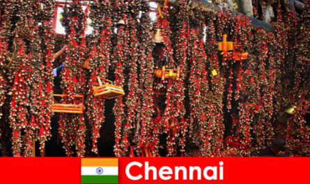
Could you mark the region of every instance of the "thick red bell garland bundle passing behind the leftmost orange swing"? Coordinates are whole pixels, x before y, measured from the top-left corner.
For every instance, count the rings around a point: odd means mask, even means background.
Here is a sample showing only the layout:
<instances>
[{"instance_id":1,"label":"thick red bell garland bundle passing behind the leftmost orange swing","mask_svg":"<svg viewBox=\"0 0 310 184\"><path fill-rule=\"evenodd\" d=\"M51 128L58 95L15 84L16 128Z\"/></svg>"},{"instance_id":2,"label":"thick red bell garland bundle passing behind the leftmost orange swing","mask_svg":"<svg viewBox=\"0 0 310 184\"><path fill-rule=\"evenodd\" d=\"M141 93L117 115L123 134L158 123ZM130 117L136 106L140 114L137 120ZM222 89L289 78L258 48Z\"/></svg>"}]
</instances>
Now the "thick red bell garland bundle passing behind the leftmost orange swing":
<instances>
[{"instance_id":1,"label":"thick red bell garland bundle passing behind the leftmost orange swing","mask_svg":"<svg viewBox=\"0 0 310 184\"><path fill-rule=\"evenodd\" d=\"M86 16L87 11L82 10L80 1L72 1L70 6L65 5L61 23L65 27L67 36L67 49L61 72L61 87L63 97L61 103L79 103L74 95L86 93L85 69L83 68L86 58ZM61 113L59 118L59 136L63 142L63 148L67 156L72 156L75 149L77 156L85 153L86 125L84 113L69 114Z\"/></svg>"}]
</instances>

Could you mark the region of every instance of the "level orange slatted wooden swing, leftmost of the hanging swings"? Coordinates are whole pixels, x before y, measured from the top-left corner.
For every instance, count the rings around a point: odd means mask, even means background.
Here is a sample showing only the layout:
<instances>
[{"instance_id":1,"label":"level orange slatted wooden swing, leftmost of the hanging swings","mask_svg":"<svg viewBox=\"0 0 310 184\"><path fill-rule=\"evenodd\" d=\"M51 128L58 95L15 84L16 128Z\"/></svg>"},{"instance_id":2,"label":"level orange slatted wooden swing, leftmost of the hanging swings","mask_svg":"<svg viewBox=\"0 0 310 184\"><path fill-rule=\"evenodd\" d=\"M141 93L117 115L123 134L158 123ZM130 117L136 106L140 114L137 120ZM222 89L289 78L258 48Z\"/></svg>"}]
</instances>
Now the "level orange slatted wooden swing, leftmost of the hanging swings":
<instances>
[{"instance_id":1,"label":"level orange slatted wooden swing, leftmost of the hanging swings","mask_svg":"<svg viewBox=\"0 0 310 184\"><path fill-rule=\"evenodd\" d=\"M68 97L67 94L54 94L54 97ZM83 114L84 110L84 95L72 95L72 97L80 98L81 102L78 104L74 103L52 103L52 110L54 112L63 112L63 113L74 113L74 114Z\"/></svg>"}]
</instances>

